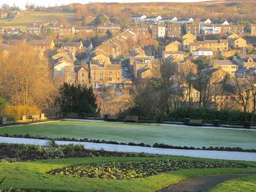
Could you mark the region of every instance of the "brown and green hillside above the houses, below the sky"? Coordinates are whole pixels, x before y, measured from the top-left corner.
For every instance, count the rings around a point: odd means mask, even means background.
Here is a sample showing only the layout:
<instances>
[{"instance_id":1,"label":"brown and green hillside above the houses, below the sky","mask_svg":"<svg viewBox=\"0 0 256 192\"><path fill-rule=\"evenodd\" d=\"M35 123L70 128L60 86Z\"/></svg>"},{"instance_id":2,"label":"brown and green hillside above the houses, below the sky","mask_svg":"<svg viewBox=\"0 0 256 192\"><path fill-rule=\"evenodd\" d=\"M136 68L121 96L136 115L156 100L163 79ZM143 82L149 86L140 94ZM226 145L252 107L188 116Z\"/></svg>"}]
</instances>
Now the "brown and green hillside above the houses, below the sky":
<instances>
[{"instance_id":1,"label":"brown and green hillside above the houses, below the sky","mask_svg":"<svg viewBox=\"0 0 256 192\"><path fill-rule=\"evenodd\" d=\"M75 23L78 15L108 15L112 20L128 20L132 15L162 15L164 17L219 18L256 21L256 1L205 1L197 3L93 3L69 4L45 8L47 12L23 11L15 19L0 20L0 26L23 28L27 23L60 21ZM114 10L114 11L113 11Z\"/></svg>"}]
</instances>

